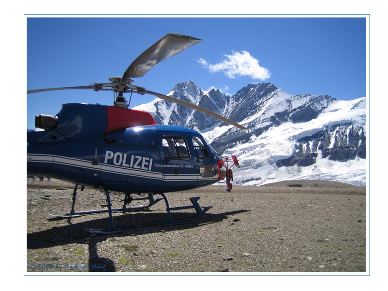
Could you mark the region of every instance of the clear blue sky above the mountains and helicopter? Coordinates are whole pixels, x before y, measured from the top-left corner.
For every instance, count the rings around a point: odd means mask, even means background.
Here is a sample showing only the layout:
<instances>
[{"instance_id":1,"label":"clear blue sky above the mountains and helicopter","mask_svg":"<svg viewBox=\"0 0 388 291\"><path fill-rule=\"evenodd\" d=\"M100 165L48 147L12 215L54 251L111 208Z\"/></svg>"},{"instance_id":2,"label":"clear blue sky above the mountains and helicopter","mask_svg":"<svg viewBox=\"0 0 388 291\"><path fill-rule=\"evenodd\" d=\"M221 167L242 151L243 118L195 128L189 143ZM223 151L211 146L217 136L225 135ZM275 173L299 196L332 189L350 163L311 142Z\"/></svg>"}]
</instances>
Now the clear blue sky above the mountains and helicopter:
<instances>
[{"instance_id":1,"label":"clear blue sky above the mountains and helicopter","mask_svg":"<svg viewBox=\"0 0 388 291\"><path fill-rule=\"evenodd\" d=\"M134 84L167 94L193 80L235 94L271 82L290 94L366 96L365 17L27 18L27 90L81 86L122 76L129 64L169 32L203 41L156 65ZM368 56L369 58L369 56ZM369 78L369 77L368 77ZM29 94L27 128L36 114L63 103L112 105L111 92L65 90ZM127 98L129 99L129 98ZM131 107L153 96L133 95Z\"/></svg>"}]
</instances>

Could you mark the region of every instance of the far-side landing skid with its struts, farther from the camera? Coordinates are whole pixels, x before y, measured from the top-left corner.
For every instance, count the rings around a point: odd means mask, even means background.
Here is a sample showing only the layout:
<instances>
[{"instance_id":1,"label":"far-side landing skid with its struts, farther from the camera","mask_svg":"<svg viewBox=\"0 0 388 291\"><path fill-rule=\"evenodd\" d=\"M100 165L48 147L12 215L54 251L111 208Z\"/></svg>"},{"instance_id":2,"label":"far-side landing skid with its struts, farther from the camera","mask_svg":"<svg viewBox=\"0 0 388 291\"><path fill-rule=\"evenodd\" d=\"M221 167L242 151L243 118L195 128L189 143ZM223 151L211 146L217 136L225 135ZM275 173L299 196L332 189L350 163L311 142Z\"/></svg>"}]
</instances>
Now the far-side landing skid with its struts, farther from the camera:
<instances>
[{"instance_id":1,"label":"far-side landing skid with its struts, farther from the camera","mask_svg":"<svg viewBox=\"0 0 388 291\"><path fill-rule=\"evenodd\" d=\"M104 192L105 190L103 188L101 188ZM76 196L77 196L77 193L78 193L78 184L74 186L74 190L73 190L73 202L72 202L72 206L71 206L71 210L70 212L67 212L65 214L49 214L51 216L55 216L55 217L62 217L62 218L73 218L73 217L80 217L82 215L90 215L90 214L97 214L97 213L105 213L105 212L110 212L109 210L109 207L108 209L104 209L104 210L89 210L89 211L75 211L75 204L76 204ZM83 191L83 186L81 187L81 191ZM112 212L115 213L115 212L128 212L128 211L142 211L142 210L146 210L148 208L150 208L152 205L158 203L159 201L161 201L163 198L156 198L154 199L154 194L148 194L147 197L139 197L139 198L132 198L130 197L130 194L126 193L125 194L125 198L124 198L124 204L123 204L123 207L122 208L115 208L115 209L112 209ZM108 197L107 197L107 200L108 200ZM110 198L109 198L110 200ZM132 201L137 201L137 200L148 200L148 205L146 206L139 206L139 207L128 207L127 206L127 203L129 202L132 202ZM110 202L108 202L108 205L110 205ZM106 205L107 206L107 205Z\"/></svg>"}]
</instances>

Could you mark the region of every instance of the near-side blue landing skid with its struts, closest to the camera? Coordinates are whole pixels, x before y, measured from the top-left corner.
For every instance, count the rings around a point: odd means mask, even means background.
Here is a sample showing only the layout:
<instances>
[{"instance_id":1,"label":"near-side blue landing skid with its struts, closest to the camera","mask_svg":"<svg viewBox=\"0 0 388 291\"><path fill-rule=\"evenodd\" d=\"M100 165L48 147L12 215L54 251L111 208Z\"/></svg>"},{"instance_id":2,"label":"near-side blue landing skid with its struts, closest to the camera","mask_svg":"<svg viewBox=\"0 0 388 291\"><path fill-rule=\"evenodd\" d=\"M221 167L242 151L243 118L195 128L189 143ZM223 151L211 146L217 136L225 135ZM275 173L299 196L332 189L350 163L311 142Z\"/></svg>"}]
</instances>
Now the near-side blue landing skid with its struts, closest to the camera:
<instances>
[{"instance_id":1,"label":"near-side blue landing skid with its struts, closest to the camera","mask_svg":"<svg viewBox=\"0 0 388 291\"><path fill-rule=\"evenodd\" d=\"M93 234L116 233L116 232L120 232L120 231L126 230L126 229L148 227L148 226L169 226L169 225L191 223L191 222L198 221L199 217L211 208L211 206L201 208L198 204L198 200L200 197L191 197L190 198L190 201L193 204L192 206L170 207L168 204L167 197L163 193L159 193L163 197L160 199L164 199L164 202L166 203L166 210L167 210L167 220L166 221L116 227L116 226L114 226L114 223L113 223L113 216L112 216L113 209L111 208L111 204L110 204L109 192L105 189L103 189L103 190L106 194L107 201L108 201L109 227L105 228L105 229L91 229L91 228L86 229L87 231L89 231ZM196 212L196 215L193 217L190 217L190 218L185 218L185 219L173 219L172 218L171 211L173 211L173 210L186 210L186 209L194 209Z\"/></svg>"}]
</instances>

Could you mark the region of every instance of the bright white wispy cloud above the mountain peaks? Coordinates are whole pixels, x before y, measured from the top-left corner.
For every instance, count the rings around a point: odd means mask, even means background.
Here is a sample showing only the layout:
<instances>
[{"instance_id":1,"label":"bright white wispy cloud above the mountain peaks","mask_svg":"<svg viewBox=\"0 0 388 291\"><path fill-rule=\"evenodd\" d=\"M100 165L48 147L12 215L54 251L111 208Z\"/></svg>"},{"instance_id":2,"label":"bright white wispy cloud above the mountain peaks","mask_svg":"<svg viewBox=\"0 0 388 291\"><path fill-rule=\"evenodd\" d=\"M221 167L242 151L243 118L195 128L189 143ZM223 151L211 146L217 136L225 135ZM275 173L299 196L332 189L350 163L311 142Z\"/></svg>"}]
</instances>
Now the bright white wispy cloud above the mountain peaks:
<instances>
[{"instance_id":1,"label":"bright white wispy cloud above the mountain peaks","mask_svg":"<svg viewBox=\"0 0 388 291\"><path fill-rule=\"evenodd\" d=\"M225 54L226 59L218 64L209 64L204 59L197 62L209 69L211 73L223 72L228 78L235 79L241 76L248 76L254 80L266 80L270 78L271 73L268 69L259 65L259 60L250 55L249 52L232 51L232 54Z\"/></svg>"}]
</instances>

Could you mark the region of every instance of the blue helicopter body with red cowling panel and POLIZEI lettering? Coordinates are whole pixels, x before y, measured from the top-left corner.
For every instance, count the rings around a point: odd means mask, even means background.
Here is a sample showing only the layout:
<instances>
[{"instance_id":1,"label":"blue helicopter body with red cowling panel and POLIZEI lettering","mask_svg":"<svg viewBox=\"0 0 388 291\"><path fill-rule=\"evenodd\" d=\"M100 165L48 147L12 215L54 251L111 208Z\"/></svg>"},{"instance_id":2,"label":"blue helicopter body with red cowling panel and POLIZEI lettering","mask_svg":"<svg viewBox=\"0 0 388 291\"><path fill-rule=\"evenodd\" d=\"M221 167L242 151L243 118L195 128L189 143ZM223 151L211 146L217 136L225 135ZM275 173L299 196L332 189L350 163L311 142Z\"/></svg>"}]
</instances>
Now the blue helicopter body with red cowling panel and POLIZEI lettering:
<instances>
[{"instance_id":1,"label":"blue helicopter body with red cowling panel and POLIZEI lettering","mask_svg":"<svg viewBox=\"0 0 388 291\"><path fill-rule=\"evenodd\" d=\"M223 178L201 134L157 125L152 115L113 106L64 104L44 131L27 132L27 173L126 193L193 189Z\"/></svg>"}]
</instances>

